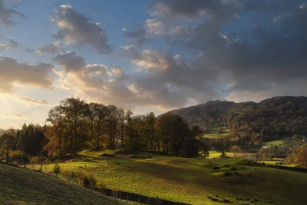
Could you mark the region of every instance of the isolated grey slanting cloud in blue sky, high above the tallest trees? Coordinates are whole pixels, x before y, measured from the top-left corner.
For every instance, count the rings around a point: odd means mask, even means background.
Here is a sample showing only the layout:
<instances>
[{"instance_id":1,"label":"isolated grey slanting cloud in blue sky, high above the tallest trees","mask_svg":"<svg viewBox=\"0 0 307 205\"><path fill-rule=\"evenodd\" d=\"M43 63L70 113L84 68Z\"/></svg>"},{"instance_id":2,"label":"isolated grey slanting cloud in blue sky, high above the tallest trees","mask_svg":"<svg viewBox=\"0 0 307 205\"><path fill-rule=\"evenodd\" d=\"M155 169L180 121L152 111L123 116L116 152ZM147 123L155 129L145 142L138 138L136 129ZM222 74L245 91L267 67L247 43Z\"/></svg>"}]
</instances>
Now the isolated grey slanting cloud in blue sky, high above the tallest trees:
<instances>
[{"instance_id":1,"label":"isolated grey slanting cloud in blue sky, high above the tallest trees","mask_svg":"<svg viewBox=\"0 0 307 205\"><path fill-rule=\"evenodd\" d=\"M75 47L90 45L101 54L109 54L112 47L108 45L106 32L99 23L91 22L91 19L82 13L78 13L71 5L61 5L50 17L59 31L53 33L53 37L63 40L65 44Z\"/></svg>"}]
</instances>

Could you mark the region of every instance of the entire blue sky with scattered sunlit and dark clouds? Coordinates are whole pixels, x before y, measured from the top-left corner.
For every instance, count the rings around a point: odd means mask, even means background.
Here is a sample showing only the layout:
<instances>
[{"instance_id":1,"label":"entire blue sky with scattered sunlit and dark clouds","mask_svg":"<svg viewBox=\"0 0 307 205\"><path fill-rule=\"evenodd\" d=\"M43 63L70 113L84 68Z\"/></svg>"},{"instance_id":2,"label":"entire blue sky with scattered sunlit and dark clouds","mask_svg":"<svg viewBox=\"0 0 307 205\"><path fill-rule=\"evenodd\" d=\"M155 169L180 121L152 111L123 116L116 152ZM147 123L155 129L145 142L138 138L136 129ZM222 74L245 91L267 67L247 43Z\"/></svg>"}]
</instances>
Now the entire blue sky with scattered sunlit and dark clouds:
<instances>
[{"instance_id":1,"label":"entire blue sky with scattered sunlit and dark clouds","mask_svg":"<svg viewBox=\"0 0 307 205\"><path fill-rule=\"evenodd\" d=\"M0 128L60 100L156 115L307 95L307 2L0 0Z\"/></svg>"}]
</instances>

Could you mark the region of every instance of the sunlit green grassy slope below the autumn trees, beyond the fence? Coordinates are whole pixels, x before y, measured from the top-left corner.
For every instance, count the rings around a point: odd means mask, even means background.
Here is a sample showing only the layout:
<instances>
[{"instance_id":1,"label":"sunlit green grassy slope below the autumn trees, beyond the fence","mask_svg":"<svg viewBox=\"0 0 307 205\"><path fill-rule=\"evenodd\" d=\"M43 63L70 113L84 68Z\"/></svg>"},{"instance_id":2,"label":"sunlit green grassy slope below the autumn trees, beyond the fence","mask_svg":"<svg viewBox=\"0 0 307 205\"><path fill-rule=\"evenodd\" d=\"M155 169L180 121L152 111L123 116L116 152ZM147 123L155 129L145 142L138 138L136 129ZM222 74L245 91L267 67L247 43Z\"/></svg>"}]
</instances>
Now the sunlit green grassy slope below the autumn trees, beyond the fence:
<instances>
[{"instance_id":1,"label":"sunlit green grassy slope below the autumn trees, beyond the fence","mask_svg":"<svg viewBox=\"0 0 307 205\"><path fill-rule=\"evenodd\" d=\"M218 199L220 202L207 198L215 194L232 201L236 201L235 197L258 197L258 204L267 204L269 200L275 204L303 204L307 200L306 173L251 167L239 159L185 159L148 153L139 154L152 158L129 159L117 152L83 153L82 158L62 163L61 168L93 171L109 188L192 204L222 204L222 198ZM109 156L102 157L103 153ZM230 167L223 168L225 164ZM222 170L213 170L215 166ZM232 175L222 176L231 167L237 168L239 175L230 171Z\"/></svg>"}]
</instances>

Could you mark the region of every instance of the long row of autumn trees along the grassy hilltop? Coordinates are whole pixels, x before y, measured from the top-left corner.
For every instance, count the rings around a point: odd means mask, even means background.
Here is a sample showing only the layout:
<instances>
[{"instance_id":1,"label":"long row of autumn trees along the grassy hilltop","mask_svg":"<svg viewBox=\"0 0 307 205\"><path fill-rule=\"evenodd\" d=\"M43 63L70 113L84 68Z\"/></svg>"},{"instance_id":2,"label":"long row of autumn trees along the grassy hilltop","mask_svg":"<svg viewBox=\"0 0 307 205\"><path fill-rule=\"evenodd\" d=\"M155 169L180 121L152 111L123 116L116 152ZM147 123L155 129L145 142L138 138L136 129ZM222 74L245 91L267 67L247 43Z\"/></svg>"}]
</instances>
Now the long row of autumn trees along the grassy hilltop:
<instances>
[{"instance_id":1,"label":"long row of autumn trees along the grassy hilltop","mask_svg":"<svg viewBox=\"0 0 307 205\"><path fill-rule=\"evenodd\" d=\"M47 125L24 125L17 132L0 137L1 153L20 150L30 156L76 155L85 149L132 148L138 151L196 157L207 153L198 136L198 126L190 128L179 115L167 112L155 116L133 115L114 105L85 103L66 98L52 108Z\"/></svg>"}]
</instances>

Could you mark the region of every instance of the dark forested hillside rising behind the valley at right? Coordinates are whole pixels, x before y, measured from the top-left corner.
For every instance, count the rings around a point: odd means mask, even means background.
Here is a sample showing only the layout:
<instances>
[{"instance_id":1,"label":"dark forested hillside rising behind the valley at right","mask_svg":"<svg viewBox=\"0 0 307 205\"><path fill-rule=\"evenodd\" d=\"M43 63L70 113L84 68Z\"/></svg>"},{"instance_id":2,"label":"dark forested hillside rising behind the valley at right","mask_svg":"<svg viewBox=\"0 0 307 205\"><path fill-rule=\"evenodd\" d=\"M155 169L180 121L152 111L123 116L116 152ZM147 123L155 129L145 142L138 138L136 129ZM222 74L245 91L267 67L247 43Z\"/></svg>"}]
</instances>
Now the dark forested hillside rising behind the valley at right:
<instances>
[{"instance_id":1,"label":"dark forested hillside rising behind the valley at right","mask_svg":"<svg viewBox=\"0 0 307 205\"><path fill-rule=\"evenodd\" d=\"M261 144L282 136L305 135L307 131L307 97L272 97L260 103L208 101L205 104L172 110L206 131L228 126L232 140Z\"/></svg>"}]
</instances>

